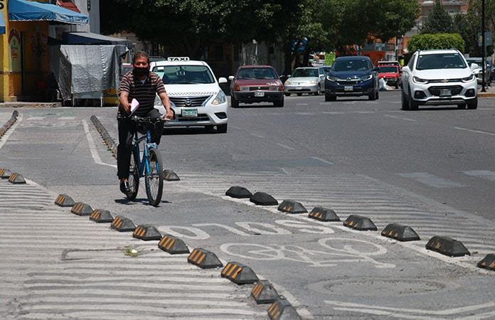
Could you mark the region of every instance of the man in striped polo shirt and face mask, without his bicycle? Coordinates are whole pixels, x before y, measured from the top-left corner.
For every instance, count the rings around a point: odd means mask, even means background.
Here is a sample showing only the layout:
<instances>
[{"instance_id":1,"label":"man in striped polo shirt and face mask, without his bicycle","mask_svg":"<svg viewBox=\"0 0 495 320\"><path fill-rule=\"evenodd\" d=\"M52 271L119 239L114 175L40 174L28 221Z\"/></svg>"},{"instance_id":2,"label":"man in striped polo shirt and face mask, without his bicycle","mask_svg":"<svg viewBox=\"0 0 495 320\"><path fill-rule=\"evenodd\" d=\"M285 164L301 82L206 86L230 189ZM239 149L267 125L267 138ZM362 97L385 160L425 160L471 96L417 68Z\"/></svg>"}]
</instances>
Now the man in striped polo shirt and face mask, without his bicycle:
<instances>
[{"instance_id":1,"label":"man in striped polo shirt and face mask, without his bicycle","mask_svg":"<svg viewBox=\"0 0 495 320\"><path fill-rule=\"evenodd\" d=\"M119 87L119 111L117 114L119 129L119 146L117 147L117 176L120 181L120 191L126 195L132 193L129 186L129 166L132 154L132 138L137 130L137 124L128 116L131 114L131 102L133 99L139 102L139 107L134 111L138 117L150 117L160 119L161 114L154 109L156 94L163 103L166 114L164 119L174 119L174 112L170 107L169 96L166 94L164 83L159 75L149 71L149 55L138 52L132 62L133 70L126 73L120 81ZM157 122L152 129L153 141L158 145L163 131L163 122Z\"/></svg>"}]
</instances>

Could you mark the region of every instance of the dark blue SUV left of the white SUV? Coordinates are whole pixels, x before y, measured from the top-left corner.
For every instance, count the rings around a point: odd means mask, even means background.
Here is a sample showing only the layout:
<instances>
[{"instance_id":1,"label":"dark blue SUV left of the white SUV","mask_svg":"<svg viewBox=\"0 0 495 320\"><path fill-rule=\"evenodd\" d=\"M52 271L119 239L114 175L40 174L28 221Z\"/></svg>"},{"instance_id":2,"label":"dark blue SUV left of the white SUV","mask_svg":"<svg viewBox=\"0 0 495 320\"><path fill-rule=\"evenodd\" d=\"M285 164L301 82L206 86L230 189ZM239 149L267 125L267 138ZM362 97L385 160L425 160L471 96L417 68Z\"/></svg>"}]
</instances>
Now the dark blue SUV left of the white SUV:
<instances>
[{"instance_id":1,"label":"dark blue SUV left of the white SUV","mask_svg":"<svg viewBox=\"0 0 495 320\"><path fill-rule=\"evenodd\" d=\"M325 101L337 97L368 95L378 99L378 70L370 58L361 56L336 58L325 79Z\"/></svg>"}]
</instances>

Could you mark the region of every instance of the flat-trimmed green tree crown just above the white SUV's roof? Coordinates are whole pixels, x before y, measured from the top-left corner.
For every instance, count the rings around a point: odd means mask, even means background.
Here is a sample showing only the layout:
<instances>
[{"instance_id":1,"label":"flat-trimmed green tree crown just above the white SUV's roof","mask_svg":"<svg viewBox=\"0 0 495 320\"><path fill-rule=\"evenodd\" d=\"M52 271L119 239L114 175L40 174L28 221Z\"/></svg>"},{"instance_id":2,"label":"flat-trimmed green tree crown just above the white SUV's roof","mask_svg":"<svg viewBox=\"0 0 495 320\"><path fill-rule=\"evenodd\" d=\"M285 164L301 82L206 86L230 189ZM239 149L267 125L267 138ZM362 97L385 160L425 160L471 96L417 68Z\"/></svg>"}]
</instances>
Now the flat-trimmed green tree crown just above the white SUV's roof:
<instances>
[{"instance_id":1,"label":"flat-trimmed green tree crown just above the white SUV's roof","mask_svg":"<svg viewBox=\"0 0 495 320\"><path fill-rule=\"evenodd\" d=\"M435 50L435 49L457 49L464 53L466 43L458 33L425 33L417 34L410 38L408 50Z\"/></svg>"}]
</instances>

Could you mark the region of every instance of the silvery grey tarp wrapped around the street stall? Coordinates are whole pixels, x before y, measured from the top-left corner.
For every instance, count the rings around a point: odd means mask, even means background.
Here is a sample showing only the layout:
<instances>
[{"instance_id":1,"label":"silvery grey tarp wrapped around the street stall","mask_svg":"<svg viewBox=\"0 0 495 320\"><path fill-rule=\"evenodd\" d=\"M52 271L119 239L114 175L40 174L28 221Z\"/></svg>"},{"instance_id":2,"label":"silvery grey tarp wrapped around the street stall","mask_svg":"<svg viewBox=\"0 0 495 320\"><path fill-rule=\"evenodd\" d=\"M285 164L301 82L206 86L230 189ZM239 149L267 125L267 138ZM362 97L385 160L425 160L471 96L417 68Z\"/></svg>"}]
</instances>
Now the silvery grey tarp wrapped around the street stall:
<instances>
[{"instance_id":1,"label":"silvery grey tarp wrapped around the street stall","mask_svg":"<svg viewBox=\"0 0 495 320\"><path fill-rule=\"evenodd\" d=\"M120 57L127 50L122 45L50 46L50 65L63 100L70 100L75 94L117 88Z\"/></svg>"}]
</instances>

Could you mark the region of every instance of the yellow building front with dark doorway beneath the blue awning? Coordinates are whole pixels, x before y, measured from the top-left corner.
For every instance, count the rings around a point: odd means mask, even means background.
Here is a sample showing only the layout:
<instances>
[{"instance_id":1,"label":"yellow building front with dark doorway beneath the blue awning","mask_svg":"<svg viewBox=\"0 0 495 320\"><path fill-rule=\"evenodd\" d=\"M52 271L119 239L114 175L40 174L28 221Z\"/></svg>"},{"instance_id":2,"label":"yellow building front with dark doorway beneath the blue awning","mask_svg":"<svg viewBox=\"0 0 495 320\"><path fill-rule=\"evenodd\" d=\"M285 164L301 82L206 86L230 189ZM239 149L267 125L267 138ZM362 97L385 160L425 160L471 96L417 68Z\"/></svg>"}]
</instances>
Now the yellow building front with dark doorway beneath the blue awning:
<instances>
[{"instance_id":1,"label":"yellow building front with dark doorway beneath the blue awning","mask_svg":"<svg viewBox=\"0 0 495 320\"><path fill-rule=\"evenodd\" d=\"M6 23L6 34L1 35L0 41L1 102L38 95L38 86L50 70L48 21L10 22L7 2L4 1L4 9L1 9Z\"/></svg>"}]
</instances>

